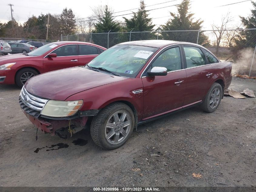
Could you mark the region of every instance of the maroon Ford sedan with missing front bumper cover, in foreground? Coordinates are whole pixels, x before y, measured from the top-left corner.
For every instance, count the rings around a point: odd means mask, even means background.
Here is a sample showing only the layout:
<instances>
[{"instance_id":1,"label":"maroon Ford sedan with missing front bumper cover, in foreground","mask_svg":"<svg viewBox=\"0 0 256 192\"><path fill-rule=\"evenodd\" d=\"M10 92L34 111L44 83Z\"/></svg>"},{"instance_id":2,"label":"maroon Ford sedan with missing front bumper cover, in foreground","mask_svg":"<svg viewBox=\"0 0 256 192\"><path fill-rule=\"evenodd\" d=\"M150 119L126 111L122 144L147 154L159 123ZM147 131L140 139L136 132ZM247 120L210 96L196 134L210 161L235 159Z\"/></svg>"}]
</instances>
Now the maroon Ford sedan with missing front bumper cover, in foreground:
<instances>
[{"instance_id":1,"label":"maroon Ford sedan with missing front bumper cover, in foreground","mask_svg":"<svg viewBox=\"0 0 256 192\"><path fill-rule=\"evenodd\" d=\"M214 112L231 83L230 62L187 42L125 42L83 67L30 79L19 104L44 133L66 138L90 126L104 149L124 144L133 129L194 105Z\"/></svg>"}]
</instances>

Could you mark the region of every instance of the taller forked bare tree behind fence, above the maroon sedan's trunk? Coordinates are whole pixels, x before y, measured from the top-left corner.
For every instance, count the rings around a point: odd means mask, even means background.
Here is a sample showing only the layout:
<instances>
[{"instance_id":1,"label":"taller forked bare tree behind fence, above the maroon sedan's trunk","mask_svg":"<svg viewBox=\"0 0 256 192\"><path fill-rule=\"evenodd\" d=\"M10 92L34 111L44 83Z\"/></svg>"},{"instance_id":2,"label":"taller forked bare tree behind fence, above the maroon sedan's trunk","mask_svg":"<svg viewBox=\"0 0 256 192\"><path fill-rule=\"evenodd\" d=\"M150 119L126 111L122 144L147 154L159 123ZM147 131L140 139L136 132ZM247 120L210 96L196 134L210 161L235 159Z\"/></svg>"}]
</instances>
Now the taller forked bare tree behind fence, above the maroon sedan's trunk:
<instances>
[{"instance_id":1,"label":"taller forked bare tree behind fence, above the maroon sedan's trunk","mask_svg":"<svg viewBox=\"0 0 256 192\"><path fill-rule=\"evenodd\" d=\"M211 27L212 27L212 30L214 35L216 36L216 55L218 55L218 51L219 51L219 47L220 47L220 43L221 43L221 39L225 33L225 29L227 29L227 25L229 22L231 22L233 20L233 18L231 18L229 16L229 12L227 13L226 16L223 16L221 18L221 26L217 26L215 24L212 24Z\"/></svg>"}]
</instances>

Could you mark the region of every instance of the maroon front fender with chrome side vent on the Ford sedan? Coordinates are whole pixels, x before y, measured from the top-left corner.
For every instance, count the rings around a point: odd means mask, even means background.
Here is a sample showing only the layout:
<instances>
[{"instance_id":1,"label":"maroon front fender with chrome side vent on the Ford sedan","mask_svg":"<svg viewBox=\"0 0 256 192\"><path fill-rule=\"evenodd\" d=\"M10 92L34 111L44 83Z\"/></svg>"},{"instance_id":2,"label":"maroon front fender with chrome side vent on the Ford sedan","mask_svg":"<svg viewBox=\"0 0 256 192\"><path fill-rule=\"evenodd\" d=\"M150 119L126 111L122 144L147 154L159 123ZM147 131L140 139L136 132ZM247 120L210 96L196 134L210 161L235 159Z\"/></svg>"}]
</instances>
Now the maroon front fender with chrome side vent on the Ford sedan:
<instances>
[{"instance_id":1,"label":"maroon front fender with chrome side vent on the Ford sedan","mask_svg":"<svg viewBox=\"0 0 256 192\"><path fill-rule=\"evenodd\" d=\"M132 91L143 89L140 78L127 78L123 81L98 86L69 96L66 101L83 99L81 111L102 109L110 103L125 101L131 103L138 113L138 120L143 115L143 93L134 94Z\"/></svg>"}]
</instances>

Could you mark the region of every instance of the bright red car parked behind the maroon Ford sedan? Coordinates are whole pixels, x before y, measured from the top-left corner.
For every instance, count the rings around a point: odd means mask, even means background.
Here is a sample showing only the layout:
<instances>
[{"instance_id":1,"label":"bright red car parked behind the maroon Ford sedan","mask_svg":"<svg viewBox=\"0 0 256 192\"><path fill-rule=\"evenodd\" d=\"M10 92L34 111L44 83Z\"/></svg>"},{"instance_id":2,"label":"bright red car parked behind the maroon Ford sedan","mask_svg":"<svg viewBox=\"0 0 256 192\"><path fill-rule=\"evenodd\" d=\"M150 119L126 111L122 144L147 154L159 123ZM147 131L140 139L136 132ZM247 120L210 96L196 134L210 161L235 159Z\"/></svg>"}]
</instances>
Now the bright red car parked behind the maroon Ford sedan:
<instances>
[{"instance_id":1,"label":"bright red car parked behind the maroon Ford sedan","mask_svg":"<svg viewBox=\"0 0 256 192\"><path fill-rule=\"evenodd\" d=\"M27 54L0 57L0 85L22 87L28 79L41 73L85 65L106 48L86 42L54 42Z\"/></svg>"}]
</instances>

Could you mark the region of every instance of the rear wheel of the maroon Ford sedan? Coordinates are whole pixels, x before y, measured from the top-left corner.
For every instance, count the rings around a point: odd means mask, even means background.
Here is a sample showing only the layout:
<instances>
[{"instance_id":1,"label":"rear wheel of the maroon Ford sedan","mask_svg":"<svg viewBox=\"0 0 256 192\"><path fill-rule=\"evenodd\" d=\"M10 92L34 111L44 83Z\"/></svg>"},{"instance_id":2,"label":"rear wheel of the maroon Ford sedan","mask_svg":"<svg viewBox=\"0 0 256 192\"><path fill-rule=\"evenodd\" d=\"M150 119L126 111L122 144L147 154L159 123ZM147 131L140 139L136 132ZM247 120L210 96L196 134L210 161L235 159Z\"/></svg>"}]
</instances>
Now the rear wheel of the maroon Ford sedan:
<instances>
[{"instance_id":1,"label":"rear wheel of the maroon Ford sedan","mask_svg":"<svg viewBox=\"0 0 256 192\"><path fill-rule=\"evenodd\" d=\"M201 104L201 109L208 113L214 112L221 103L221 97L221 85L219 83L213 83Z\"/></svg>"}]
</instances>

